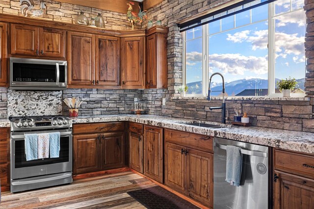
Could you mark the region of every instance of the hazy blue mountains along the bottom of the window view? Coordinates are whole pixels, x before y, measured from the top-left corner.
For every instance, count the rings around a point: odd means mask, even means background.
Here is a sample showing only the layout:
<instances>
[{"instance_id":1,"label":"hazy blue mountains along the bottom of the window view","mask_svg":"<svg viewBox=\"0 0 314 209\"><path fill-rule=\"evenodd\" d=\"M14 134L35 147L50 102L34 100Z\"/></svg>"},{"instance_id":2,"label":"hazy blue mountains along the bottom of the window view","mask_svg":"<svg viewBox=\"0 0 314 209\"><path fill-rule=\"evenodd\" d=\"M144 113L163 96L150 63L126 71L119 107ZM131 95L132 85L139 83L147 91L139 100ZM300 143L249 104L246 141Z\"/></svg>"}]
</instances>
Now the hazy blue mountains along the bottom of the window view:
<instances>
[{"instance_id":1,"label":"hazy blue mountains along the bottom of the window view","mask_svg":"<svg viewBox=\"0 0 314 209\"><path fill-rule=\"evenodd\" d=\"M278 78L275 79L276 83ZM297 79L298 86L296 88L300 88L304 90L304 82L305 78ZM188 86L188 93L193 94L202 94L202 82L192 82L186 84ZM222 83L212 83L211 85L211 91L221 91L222 90ZM268 81L266 79L241 79L241 80L235 80L230 83L225 83L226 86L226 93L229 96L236 96L237 94L243 92L244 90L265 90L262 94L259 95L266 95L267 89L268 89ZM255 91L254 91L255 92ZM255 93L249 93L248 95L255 96ZM266 93L266 94L264 94ZM212 92L211 95L217 96L220 95L221 92Z\"/></svg>"}]
</instances>

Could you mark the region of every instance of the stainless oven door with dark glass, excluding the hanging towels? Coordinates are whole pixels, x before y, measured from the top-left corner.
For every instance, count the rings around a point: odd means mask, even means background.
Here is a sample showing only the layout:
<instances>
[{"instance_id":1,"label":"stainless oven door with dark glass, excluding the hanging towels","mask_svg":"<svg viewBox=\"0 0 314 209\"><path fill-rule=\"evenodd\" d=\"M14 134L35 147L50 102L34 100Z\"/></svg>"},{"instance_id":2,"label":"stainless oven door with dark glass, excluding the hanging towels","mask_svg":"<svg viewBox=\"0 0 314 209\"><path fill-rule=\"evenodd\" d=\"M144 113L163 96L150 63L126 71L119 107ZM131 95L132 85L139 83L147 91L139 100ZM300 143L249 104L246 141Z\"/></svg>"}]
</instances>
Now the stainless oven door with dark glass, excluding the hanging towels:
<instances>
[{"instance_id":1,"label":"stainless oven door with dark glass, excluding the hanging towels","mask_svg":"<svg viewBox=\"0 0 314 209\"><path fill-rule=\"evenodd\" d=\"M24 134L52 132L60 132L59 158L26 161ZM72 171L72 129L11 133L11 180L69 171Z\"/></svg>"}]
</instances>

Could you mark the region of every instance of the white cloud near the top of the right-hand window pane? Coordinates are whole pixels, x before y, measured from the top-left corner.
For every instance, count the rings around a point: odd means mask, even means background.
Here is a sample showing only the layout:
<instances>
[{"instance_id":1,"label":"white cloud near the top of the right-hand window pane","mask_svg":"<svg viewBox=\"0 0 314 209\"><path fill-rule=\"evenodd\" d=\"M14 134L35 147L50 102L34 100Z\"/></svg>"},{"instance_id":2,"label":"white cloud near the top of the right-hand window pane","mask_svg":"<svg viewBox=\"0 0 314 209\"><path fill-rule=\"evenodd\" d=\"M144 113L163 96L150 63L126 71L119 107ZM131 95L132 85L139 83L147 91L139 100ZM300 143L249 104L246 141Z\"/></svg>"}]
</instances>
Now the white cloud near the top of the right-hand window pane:
<instances>
[{"instance_id":1,"label":"white cloud near the top of the right-hand window pane","mask_svg":"<svg viewBox=\"0 0 314 209\"><path fill-rule=\"evenodd\" d=\"M288 23L296 23L299 27L305 26L305 11L299 10L276 18L276 27L283 27Z\"/></svg>"}]
</instances>

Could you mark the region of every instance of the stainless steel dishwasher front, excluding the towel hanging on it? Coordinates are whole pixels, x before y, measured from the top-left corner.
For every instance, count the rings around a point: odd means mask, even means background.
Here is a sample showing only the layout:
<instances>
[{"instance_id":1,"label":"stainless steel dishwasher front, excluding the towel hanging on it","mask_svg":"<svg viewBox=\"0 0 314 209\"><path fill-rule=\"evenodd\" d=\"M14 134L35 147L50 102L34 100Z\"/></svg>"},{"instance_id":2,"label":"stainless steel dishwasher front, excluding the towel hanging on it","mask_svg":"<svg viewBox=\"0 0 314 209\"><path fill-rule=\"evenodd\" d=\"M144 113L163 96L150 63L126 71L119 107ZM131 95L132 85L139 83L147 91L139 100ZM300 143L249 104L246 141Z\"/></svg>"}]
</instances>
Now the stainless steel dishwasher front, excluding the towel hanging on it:
<instances>
[{"instance_id":1,"label":"stainless steel dishwasher front, excluding the towel hanging on it","mask_svg":"<svg viewBox=\"0 0 314 209\"><path fill-rule=\"evenodd\" d=\"M241 141L214 138L214 209L268 209L268 147ZM226 179L226 146L241 147L240 186Z\"/></svg>"}]
</instances>

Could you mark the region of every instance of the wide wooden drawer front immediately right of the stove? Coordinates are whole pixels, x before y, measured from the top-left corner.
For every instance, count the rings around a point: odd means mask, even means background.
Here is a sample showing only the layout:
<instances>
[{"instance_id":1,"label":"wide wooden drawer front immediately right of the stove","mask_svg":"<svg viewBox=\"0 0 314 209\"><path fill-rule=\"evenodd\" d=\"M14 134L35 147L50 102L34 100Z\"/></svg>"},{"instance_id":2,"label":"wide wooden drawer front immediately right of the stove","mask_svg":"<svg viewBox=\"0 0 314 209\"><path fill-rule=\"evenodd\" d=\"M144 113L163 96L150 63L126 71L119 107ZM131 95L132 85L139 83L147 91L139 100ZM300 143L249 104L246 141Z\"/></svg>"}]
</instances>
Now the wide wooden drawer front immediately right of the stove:
<instances>
[{"instance_id":1,"label":"wide wooden drawer front immediately right of the stove","mask_svg":"<svg viewBox=\"0 0 314 209\"><path fill-rule=\"evenodd\" d=\"M73 125L73 134L124 131L124 122L82 123Z\"/></svg>"}]
</instances>

